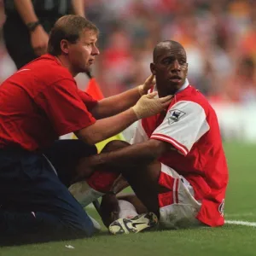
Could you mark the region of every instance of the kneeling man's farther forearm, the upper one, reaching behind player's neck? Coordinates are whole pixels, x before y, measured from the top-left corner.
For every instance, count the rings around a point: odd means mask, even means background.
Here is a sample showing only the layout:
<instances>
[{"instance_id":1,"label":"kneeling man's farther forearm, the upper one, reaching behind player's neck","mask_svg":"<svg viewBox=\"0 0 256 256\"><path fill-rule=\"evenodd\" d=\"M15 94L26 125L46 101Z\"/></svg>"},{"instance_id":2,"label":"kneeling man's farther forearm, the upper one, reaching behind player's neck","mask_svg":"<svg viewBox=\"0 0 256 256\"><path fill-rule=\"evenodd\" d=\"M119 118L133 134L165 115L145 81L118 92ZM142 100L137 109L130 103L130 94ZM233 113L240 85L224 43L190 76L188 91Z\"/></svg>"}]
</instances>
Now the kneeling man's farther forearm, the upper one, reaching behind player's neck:
<instances>
[{"instance_id":1,"label":"kneeling man's farther forearm, the upper one, reaching behind player's neck","mask_svg":"<svg viewBox=\"0 0 256 256\"><path fill-rule=\"evenodd\" d=\"M113 116L114 114L121 113L134 106L140 97L138 89L133 88L98 102L98 105L92 110L92 113L97 119Z\"/></svg>"}]
</instances>

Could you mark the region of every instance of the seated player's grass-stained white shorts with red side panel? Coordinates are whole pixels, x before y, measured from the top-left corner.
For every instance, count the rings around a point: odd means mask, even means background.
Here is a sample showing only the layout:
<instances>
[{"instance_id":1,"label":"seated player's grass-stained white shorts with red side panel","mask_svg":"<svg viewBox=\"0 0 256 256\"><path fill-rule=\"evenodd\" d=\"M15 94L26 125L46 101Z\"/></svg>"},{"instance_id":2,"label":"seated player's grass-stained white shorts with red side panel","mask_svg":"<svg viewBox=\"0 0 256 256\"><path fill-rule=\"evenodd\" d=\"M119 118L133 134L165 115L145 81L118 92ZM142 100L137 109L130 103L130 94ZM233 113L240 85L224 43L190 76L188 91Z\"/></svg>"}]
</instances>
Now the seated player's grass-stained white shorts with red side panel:
<instances>
[{"instance_id":1,"label":"seated player's grass-stained white shorts with red side panel","mask_svg":"<svg viewBox=\"0 0 256 256\"><path fill-rule=\"evenodd\" d=\"M161 164L159 183L170 189L158 196L160 228L178 229L201 225L195 218L201 209L201 202L195 200L190 183L164 164Z\"/></svg>"}]
</instances>

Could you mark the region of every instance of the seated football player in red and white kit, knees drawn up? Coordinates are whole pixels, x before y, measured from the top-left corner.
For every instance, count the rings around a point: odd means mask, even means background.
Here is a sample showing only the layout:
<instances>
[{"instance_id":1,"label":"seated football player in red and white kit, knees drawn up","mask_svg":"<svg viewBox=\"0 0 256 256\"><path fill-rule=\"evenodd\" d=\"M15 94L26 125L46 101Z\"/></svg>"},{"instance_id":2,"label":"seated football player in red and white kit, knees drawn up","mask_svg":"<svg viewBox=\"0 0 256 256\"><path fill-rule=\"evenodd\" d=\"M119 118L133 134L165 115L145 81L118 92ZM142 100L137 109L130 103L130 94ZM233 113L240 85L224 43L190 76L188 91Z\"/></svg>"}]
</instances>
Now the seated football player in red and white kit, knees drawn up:
<instances>
[{"instance_id":1,"label":"seated football player in red and white kit, knees drawn up","mask_svg":"<svg viewBox=\"0 0 256 256\"><path fill-rule=\"evenodd\" d=\"M108 143L108 150L81 164L82 169L96 170L91 179L98 177L98 182L103 173L108 173L105 177L120 175L112 193L103 195L103 222L113 234L155 225L161 229L221 226L228 167L216 113L206 97L189 84L181 44L160 42L153 60L150 69L156 85L152 90L160 97L172 95L169 107L138 121L133 145ZM87 182L93 187L91 179ZM135 195L116 196L127 184Z\"/></svg>"}]
</instances>

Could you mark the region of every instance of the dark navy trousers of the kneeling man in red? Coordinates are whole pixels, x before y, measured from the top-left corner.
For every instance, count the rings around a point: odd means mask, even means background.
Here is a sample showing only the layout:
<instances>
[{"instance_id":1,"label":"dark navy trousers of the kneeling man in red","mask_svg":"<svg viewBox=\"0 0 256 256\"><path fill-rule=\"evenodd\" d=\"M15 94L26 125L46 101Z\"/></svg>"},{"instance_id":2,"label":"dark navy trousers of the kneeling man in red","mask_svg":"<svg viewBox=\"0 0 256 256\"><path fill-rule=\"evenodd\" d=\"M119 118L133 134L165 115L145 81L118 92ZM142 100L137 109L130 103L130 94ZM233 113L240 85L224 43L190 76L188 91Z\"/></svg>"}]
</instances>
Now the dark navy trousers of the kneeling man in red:
<instances>
[{"instance_id":1,"label":"dark navy trousers of the kneeling man in red","mask_svg":"<svg viewBox=\"0 0 256 256\"><path fill-rule=\"evenodd\" d=\"M56 141L44 154L1 150L0 234L91 236L90 218L67 189L78 160L91 154L96 147L79 140Z\"/></svg>"}]
</instances>

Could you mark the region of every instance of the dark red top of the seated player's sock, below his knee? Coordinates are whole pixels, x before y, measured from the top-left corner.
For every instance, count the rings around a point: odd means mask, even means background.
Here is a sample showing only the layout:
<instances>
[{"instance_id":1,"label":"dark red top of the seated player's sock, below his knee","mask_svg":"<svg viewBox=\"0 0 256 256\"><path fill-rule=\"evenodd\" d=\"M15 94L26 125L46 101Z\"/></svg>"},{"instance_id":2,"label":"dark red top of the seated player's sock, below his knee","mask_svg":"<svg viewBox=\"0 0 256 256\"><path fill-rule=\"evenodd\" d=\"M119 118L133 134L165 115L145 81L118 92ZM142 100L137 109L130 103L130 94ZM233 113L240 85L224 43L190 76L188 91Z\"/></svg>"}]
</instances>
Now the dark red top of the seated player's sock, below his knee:
<instances>
[{"instance_id":1,"label":"dark red top of the seated player's sock, below his knee","mask_svg":"<svg viewBox=\"0 0 256 256\"><path fill-rule=\"evenodd\" d=\"M112 188L117 177L119 177L118 173L97 170L86 178L86 182L92 189L107 193Z\"/></svg>"}]
</instances>

